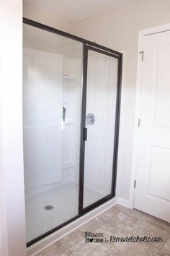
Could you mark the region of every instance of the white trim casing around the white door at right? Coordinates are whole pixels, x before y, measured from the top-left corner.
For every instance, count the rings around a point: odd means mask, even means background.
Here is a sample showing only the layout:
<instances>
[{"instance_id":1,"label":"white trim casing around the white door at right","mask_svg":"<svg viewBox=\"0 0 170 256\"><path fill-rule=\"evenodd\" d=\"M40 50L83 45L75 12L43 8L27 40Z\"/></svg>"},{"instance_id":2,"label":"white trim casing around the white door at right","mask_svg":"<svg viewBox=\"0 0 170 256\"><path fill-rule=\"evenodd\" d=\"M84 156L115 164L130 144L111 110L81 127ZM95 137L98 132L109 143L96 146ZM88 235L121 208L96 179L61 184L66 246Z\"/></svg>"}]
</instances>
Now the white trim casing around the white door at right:
<instances>
[{"instance_id":1,"label":"white trim casing around the white door at right","mask_svg":"<svg viewBox=\"0 0 170 256\"><path fill-rule=\"evenodd\" d=\"M170 23L157 27L150 27L145 30L139 30L138 33L138 64L137 64L137 77L136 77L136 89L135 89L135 122L134 122L134 135L133 135L133 158L130 177L130 208L134 208L135 203L135 188L134 181L137 176L137 164L138 164L138 141L139 141L139 127L138 120L140 119L140 104L142 95L142 75L143 75L143 61L140 52L143 51L144 38L147 35L153 35L156 33L164 33L170 30ZM145 58L145 54L144 54ZM138 182L137 182L138 186Z\"/></svg>"}]
</instances>

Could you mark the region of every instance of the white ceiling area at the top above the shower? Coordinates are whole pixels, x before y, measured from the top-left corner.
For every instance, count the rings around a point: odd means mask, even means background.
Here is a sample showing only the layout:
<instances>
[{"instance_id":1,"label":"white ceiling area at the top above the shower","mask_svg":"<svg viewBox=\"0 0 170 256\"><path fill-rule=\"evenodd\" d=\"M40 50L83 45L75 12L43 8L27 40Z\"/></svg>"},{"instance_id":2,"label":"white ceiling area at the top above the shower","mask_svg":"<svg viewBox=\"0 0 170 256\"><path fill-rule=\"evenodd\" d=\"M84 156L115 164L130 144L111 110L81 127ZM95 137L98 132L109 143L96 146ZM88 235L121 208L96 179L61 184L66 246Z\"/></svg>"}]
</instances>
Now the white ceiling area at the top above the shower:
<instances>
[{"instance_id":1,"label":"white ceiling area at the top above the shower","mask_svg":"<svg viewBox=\"0 0 170 256\"><path fill-rule=\"evenodd\" d=\"M79 22L139 0L24 0L71 22Z\"/></svg>"}]
</instances>

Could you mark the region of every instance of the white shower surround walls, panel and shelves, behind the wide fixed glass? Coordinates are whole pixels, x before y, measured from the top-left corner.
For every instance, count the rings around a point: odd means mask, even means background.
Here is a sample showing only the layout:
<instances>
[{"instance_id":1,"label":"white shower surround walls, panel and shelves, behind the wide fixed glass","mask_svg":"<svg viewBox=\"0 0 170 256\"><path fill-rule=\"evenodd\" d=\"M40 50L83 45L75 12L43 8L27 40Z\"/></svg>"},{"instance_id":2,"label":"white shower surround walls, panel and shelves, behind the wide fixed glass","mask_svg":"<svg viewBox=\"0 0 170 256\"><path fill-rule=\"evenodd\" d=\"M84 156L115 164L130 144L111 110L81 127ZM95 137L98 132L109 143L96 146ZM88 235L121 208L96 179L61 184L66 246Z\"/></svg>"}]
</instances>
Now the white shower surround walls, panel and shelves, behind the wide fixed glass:
<instances>
[{"instance_id":1,"label":"white shower surround walls, panel and shelves, behind the wide fixed glass","mask_svg":"<svg viewBox=\"0 0 170 256\"><path fill-rule=\"evenodd\" d=\"M67 48L66 54L73 51ZM23 54L24 180L29 196L64 182L79 183L82 59L27 47Z\"/></svg>"}]
</instances>

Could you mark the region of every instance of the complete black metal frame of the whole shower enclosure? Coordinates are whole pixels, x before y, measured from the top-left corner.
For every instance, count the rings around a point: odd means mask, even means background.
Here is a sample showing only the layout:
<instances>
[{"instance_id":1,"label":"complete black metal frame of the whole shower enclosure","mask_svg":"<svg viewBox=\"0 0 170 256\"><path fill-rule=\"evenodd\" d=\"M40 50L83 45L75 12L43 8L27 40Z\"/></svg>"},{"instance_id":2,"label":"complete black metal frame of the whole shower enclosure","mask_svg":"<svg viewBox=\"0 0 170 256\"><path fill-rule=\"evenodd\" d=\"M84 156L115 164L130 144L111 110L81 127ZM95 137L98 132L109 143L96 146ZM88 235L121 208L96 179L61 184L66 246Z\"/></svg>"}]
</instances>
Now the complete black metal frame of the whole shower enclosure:
<instances>
[{"instance_id":1,"label":"complete black metal frame of the whole shower enclosure","mask_svg":"<svg viewBox=\"0 0 170 256\"><path fill-rule=\"evenodd\" d=\"M61 229L63 226L66 226L68 223L75 221L77 218L83 216L85 213L97 208L99 205L102 205L104 202L107 202L111 198L115 197L115 187L116 187L116 174L117 174L117 150L118 150L118 138L119 138L119 125L120 125L120 98L121 98L121 82L122 82L122 53L114 51L105 46L101 46L97 43L91 42L84 38L79 38L76 35L71 35L69 33L57 30L54 27L49 27L47 25L35 22L34 20L29 20L23 18L23 23L31 25L33 27L46 30L50 33L55 33L62 35L66 38L79 41L84 45L83 52L83 93L82 93L82 109L81 109L81 151L80 151L80 172L79 172L79 214L70 220L62 223L61 225L51 229L50 231L45 232L35 239L32 239L30 242L27 242L27 247L34 244L35 242L40 241L40 239L45 238L49 234L52 234L54 231ZM100 54L105 54L107 56L112 56L118 60L118 69L117 69L117 102L116 102L116 114L115 114L115 142L114 142L114 155L113 155L113 168L112 168L112 192L103 197L101 200L94 202L86 208L83 208L83 196L84 196L84 152L85 152L85 140L84 140L84 127L86 127L86 79L87 79L87 61L88 61L88 50L97 51Z\"/></svg>"}]
</instances>

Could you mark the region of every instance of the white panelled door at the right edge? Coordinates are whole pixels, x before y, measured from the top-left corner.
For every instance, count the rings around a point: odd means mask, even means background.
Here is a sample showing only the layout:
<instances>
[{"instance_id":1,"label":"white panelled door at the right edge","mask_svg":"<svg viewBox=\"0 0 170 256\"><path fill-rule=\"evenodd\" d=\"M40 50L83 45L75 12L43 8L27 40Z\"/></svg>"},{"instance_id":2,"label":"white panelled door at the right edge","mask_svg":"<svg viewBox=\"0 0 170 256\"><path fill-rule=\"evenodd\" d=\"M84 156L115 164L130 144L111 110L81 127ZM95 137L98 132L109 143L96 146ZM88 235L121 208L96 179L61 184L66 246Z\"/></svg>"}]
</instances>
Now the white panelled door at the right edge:
<instances>
[{"instance_id":1,"label":"white panelled door at the right edge","mask_svg":"<svg viewBox=\"0 0 170 256\"><path fill-rule=\"evenodd\" d=\"M143 51L135 208L170 222L170 31Z\"/></svg>"}]
</instances>

